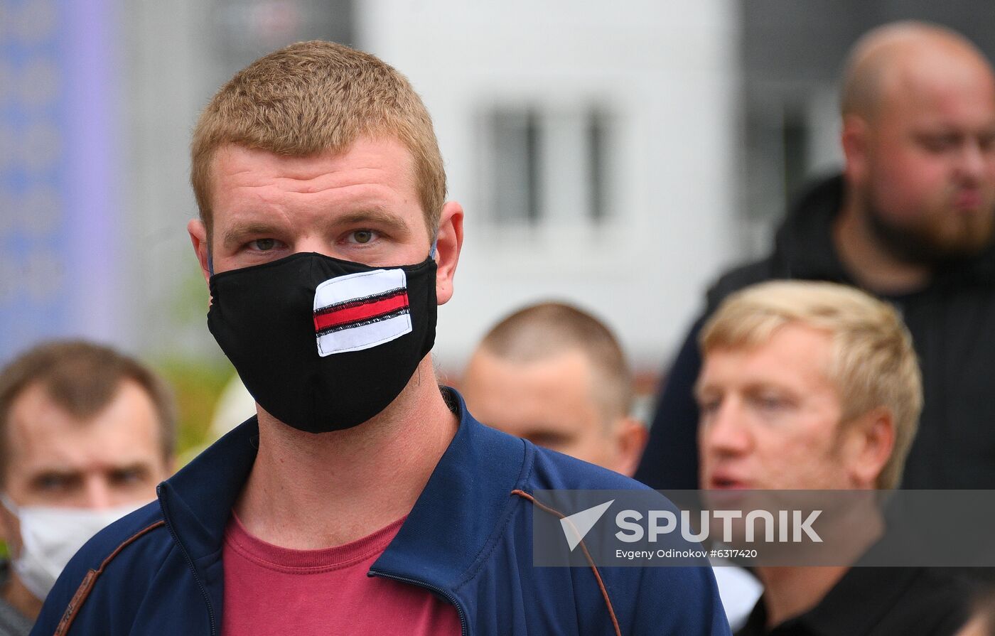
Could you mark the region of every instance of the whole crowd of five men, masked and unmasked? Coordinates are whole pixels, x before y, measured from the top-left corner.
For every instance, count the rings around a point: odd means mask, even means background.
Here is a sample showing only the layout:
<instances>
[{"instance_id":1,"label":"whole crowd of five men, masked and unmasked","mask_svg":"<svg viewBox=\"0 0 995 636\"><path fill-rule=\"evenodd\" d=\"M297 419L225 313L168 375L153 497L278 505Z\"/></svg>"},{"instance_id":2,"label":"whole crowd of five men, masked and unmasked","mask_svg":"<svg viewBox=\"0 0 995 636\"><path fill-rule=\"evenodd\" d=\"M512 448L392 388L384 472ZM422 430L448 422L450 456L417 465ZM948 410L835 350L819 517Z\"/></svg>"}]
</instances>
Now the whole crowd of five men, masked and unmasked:
<instances>
[{"instance_id":1,"label":"whole crowd of five men, masked and unmasked","mask_svg":"<svg viewBox=\"0 0 995 636\"><path fill-rule=\"evenodd\" d=\"M136 360L64 341L4 368L0 636L993 633L984 577L862 565L874 515L836 565L533 565L564 516L543 491L995 484L995 76L897 23L842 86L842 173L708 292L647 430L614 334L562 303L440 387L464 211L425 106L327 42L240 71L193 132L187 229L257 415L173 474Z\"/></svg>"}]
</instances>

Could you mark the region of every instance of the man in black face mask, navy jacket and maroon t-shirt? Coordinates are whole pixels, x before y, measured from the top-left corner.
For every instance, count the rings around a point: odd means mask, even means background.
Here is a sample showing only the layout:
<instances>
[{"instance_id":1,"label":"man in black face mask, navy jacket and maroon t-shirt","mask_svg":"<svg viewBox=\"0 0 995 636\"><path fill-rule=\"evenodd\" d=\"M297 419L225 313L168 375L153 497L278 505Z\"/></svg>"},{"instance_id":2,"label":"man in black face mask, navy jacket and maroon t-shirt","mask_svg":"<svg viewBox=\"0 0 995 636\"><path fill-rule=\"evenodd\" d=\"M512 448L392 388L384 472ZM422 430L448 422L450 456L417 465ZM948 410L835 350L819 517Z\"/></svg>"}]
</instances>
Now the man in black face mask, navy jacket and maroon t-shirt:
<instances>
[{"instance_id":1,"label":"man in black face mask, navy jacket and maroon t-shirt","mask_svg":"<svg viewBox=\"0 0 995 636\"><path fill-rule=\"evenodd\" d=\"M532 493L640 485L436 383L463 210L403 76L272 53L206 107L192 162L208 326L257 416L85 546L35 634L728 633L707 569L532 565Z\"/></svg>"}]
</instances>

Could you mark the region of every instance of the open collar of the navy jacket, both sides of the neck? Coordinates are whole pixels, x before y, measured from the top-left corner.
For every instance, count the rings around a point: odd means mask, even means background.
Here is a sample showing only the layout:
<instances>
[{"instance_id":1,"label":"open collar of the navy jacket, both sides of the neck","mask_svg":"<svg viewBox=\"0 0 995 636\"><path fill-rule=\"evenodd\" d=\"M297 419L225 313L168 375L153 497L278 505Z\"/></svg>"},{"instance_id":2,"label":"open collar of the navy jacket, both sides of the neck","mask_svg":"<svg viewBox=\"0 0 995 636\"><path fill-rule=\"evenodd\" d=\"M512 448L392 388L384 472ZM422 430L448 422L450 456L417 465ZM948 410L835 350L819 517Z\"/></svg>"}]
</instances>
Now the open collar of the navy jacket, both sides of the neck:
<instances>
[{"instance_id":1,"label":"open collar of the navy jacket, both sides of the neck","mask_svg":"<svg viewBox=\"0 0 995 636\"><path fill-rule=\"evenodd\" d=\"M532 450L474 419L463 397L443 389L460 418L453 441L425 490L373 568L449 588L493 541L511 512ZM256 459L255 417L222 437L164 482L159 491L166 522L195 563L220 558L225 527ZM527 450L526 450L527 449ZM385 485L389 486L389 485Z\"/></svg>"}]
</instances>

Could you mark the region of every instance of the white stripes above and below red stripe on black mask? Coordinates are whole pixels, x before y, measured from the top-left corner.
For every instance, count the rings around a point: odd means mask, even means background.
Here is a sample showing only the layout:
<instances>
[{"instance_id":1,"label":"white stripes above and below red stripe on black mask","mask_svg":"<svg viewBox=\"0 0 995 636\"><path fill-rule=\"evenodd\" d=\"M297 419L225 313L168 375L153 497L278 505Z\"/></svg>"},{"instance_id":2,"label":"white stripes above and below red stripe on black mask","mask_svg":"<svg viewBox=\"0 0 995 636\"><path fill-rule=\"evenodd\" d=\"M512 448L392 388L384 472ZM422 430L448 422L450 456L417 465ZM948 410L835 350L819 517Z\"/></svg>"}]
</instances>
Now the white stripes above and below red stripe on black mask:
<instances>
[{"instance_id":1,"label":"white stripes above and below red stripe on black mask","mask_svg":"<svg viewBox=\"0 0 995 636\"><path fill-rule=\"evenodd\" d=\"M404 270L374 270L328 279L314 290L314 310L329 305L383 294L398 288L407 289ZM332 353L359 351L389 342L411 332L411 315L403 314L379 322L350 326L318 336L317 352L322 357Z\"/></svg>"}]
</instances>

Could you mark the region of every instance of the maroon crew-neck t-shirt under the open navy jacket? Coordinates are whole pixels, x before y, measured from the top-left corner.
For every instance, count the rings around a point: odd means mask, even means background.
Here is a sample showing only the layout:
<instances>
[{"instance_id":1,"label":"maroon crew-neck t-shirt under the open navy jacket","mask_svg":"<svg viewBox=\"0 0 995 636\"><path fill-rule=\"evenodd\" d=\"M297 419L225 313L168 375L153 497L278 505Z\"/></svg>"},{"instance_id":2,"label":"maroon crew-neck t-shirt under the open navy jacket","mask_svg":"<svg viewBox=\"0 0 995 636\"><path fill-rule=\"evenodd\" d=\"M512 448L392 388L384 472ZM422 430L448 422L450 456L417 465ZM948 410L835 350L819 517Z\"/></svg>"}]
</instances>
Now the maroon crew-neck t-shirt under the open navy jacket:
<instances>
[{"instance_id":1,"label":"maroon crew-neck t-shirt under the open navy jacket","mask_svg":"<svg viewBox=\"0 0 995 636\"><path fill-rule=\"evenodd\" d=\"M225 529L222 635L460 634L448 601L366 575L403 523L344 545L300 550L256 538L233 514Z\"/></svg>"}]
</instances>

